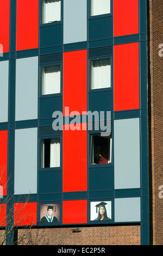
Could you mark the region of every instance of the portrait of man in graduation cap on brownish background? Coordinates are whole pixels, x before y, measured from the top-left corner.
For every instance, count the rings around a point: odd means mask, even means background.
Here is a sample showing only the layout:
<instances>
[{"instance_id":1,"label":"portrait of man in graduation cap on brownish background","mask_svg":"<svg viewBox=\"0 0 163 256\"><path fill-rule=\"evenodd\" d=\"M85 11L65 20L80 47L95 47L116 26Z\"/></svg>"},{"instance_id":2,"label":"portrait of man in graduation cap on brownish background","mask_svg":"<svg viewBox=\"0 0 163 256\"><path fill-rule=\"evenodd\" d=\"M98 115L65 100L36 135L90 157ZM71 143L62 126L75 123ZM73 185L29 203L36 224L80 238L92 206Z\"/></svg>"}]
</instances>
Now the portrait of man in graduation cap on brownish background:
<instances>
[{"instance_id":1,"label":"portrait of man in graduation cap on brownish background","mask_svg":"<svg viewBox=\"0 0 163 256\"><path fill-rule=\"evenodd\" d=\"M40 222L59 222L60 221L60 204L41 204L40 205Z\"/></svg>"}]
</instances>

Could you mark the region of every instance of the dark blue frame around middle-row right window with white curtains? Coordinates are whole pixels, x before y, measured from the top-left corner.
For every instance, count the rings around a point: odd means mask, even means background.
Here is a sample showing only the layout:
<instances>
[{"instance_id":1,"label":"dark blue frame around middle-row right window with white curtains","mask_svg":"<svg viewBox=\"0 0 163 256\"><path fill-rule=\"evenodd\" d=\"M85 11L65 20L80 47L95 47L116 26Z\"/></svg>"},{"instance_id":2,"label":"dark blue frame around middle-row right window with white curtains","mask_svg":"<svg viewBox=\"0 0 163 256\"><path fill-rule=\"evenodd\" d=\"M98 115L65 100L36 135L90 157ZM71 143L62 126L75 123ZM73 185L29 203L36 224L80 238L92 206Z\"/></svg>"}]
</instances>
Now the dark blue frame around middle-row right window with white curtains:
<instances>
[{"instance_id":1,"label":"dark blue frame around middle-row right window with white curtains","mask_svg":"<svg viewBox=\"0 0 163 256\"><path fill-rule=\"evenodd\" d=\"M97 88L97 89L91 89L91 62L95 61L95 60L104 60L104 59L110 59L110 63L111 63L111 77L110 77L110 87L106 87L106 88ZM105 55L105 56L99 56L99 57L93 57L93 58L89 58L89 63L88 63L88 69L89 69L89 93L95 93L95 92L105 92L105 91L109 91L113 89L113 57L112 55Z\"/></svg>"}]
</instances>

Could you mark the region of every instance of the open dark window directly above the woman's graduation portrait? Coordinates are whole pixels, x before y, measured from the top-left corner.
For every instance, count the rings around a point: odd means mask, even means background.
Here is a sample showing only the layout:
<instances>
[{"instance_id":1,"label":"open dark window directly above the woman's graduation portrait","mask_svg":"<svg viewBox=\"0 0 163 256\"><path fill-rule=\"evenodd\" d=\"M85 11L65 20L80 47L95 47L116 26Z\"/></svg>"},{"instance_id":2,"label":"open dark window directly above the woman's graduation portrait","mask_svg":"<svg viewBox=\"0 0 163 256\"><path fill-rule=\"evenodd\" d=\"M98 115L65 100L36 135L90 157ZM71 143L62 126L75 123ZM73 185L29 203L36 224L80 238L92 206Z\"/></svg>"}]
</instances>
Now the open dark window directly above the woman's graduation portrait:
<instances>
[{"instance_id":1,"label":"open dark window directly above the woman's graduation portrait","mask_svg":"<svg viewBox=\"0 0 163 256\"><path fill-rule=\"evenodd\" d=\"M101 136L101 133L91 135L91 164L111 163L112 139Z\"/></svg>"}]
</instances>

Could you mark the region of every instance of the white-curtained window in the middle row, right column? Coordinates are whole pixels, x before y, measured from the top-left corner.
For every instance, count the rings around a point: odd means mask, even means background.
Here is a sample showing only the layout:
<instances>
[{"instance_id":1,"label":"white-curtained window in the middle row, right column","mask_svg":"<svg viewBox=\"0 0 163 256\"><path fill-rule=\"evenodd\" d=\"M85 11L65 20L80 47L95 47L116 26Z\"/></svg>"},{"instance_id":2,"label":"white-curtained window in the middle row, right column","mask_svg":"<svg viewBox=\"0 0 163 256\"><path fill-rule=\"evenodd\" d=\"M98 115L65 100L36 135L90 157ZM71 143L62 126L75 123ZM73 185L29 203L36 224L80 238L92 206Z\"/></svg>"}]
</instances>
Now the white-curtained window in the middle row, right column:
<instances>
[{"instance_id":1,"label":"white-curtained window in the middle row, right column","mask_svg":"<svg viewBox=\"0 0 163 256\"><path fill-rule=\"evenodd\" d=\"M91 89L111 87L111 59L91 61Z\"/></svg>"}]
</instances>

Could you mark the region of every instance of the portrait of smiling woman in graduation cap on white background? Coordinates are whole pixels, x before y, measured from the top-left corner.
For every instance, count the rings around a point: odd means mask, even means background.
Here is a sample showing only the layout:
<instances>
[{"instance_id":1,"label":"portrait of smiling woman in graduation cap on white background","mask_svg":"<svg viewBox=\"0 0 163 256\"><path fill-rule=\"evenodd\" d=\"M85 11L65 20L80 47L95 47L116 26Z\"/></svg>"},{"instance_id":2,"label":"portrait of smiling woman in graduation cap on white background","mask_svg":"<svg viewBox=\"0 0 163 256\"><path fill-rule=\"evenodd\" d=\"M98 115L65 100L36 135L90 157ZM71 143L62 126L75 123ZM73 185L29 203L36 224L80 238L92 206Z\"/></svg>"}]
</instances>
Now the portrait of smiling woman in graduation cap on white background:
<instances>
[{"instance_id":1,"label":"portrait of smiling woman in graduation cap on white background","mask_svg":"<svg viewBox=\"0 0 163 256\"><path fill-rule=\"evenodd\" d=\"M111 201L91 202L91 221L111 221Z\"/></svg>"}]
</instances>

